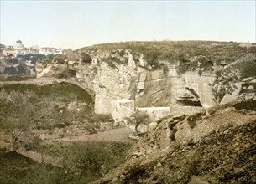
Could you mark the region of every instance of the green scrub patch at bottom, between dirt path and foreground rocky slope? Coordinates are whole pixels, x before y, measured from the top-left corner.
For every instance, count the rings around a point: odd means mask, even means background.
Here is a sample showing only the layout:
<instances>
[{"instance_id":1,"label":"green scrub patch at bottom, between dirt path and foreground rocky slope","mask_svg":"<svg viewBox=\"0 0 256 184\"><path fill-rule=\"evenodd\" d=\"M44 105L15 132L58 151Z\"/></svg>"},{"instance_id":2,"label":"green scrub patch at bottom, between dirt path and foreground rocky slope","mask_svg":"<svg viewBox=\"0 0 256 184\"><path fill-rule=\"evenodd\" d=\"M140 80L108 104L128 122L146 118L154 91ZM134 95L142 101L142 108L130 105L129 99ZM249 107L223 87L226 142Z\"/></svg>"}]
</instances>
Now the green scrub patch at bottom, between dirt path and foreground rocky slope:
<instances>
[{"instance_id":1,"label":"green scrub patch at bottom, between dirt path and foreground rocky slope","mask_svg":"<svg viewBox=\"0 0 256 184\"><path fill-rule=\"evenodd\" d=\"M68 173L67 183L88 183L123 163L130 147L129 143L110 141L54 142L42 143L34 151L63 158L60 164Z\"/></svg>"}]
</instances>

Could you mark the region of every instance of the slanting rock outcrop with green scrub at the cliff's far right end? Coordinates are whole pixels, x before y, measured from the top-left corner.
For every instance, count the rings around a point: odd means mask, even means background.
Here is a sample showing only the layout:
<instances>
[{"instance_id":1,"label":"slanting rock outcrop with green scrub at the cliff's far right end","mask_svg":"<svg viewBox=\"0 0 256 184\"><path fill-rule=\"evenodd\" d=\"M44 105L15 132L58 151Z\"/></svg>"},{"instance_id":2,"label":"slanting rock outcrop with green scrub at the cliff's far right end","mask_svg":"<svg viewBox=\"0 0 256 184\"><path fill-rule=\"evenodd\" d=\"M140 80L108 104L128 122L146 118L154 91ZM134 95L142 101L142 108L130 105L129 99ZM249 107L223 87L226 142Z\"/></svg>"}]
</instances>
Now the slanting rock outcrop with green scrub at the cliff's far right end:
<instances>
[{"instance_id":1,"label":"slanting rock outcrop with green scrub at the cliff's far right end","mask_svg":"<svg viewBox=\"0 0 256 184\"><path fill-rule=\"evenodd\" d=\"M220 104L233 100L253 100L256 94L256 56L248 55L227 64L218 72L212 89Z\"/></svg>"}]
</instances>

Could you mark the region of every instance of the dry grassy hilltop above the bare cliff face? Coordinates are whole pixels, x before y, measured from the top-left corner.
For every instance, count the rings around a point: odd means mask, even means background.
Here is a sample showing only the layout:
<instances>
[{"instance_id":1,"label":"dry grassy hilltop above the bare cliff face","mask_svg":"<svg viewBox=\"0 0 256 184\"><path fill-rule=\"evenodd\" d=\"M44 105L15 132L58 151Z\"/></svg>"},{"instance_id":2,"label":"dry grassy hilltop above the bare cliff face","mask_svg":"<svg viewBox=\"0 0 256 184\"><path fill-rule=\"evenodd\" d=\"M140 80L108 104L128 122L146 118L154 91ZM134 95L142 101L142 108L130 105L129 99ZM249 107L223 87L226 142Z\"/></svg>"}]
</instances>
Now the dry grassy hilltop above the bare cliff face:
<instances>
[{"instance_id":1,"label":"dry grassy hilltop above the bare cliff face","mask_svg":"<svg viewBox=\"0 0 256 184\"><path fill-rule=\"evenodd\" d=\"M195 68L212 70L212 66L215 64L231 64L243 56L256 54L255 49L241 48L238 46L239 44L209 41L125 42L97 44L78 51L105 50L117 52L122 57L124 51L129 50L133 55L144 54L144 59L148 63L146 69L159 69L159 64L162 61L170 64L180 63L180 73L183 74L185 71Z\"/></svg>"}]
</instances>

